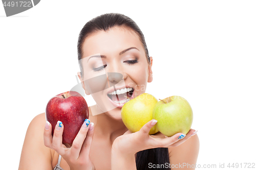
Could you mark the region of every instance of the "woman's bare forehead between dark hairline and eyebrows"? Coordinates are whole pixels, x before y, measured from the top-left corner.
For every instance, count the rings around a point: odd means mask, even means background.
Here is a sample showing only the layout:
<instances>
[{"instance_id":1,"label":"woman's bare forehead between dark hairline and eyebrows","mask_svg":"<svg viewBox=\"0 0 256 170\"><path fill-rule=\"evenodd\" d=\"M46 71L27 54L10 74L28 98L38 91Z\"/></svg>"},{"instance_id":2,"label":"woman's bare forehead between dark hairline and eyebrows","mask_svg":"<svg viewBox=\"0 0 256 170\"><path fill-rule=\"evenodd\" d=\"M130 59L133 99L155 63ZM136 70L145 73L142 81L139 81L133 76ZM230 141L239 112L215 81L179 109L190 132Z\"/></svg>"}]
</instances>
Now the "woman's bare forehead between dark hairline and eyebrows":
<instances>
[{"instance_id":1,"label":"woman's bare forehead between dark hairline and eyebrows","mask_svg":"<svg viewBox=\"0 0 256 170\"><path fill-rule=\"evenodd\" d=\"M107 32L97 31L84 40L82 58L99 53L106 56L115 55L129 47L137 47L140 52L144 52L139 36L132 29L115 27Z\"/></svg>"}]
</instances>

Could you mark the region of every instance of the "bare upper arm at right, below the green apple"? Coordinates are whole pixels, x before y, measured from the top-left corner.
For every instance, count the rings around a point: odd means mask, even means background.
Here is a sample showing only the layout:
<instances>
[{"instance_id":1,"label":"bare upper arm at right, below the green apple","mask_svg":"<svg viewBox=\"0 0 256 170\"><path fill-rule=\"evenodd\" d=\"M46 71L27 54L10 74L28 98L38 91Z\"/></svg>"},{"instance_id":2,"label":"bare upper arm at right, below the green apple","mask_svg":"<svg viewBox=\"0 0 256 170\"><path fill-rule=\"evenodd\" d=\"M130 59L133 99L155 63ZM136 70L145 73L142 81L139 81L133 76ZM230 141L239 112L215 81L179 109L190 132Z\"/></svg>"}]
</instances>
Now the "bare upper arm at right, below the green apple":
<instances>
[{"instance_id":1,"label":"bare upper arm at right, below the green apple","mask_svg":"<svg viewBox=\"0 0 256 170\"><path fill-rule=\"evenodd\" d=\"M197 134L191 136L187 141L177 147L168 149L170 167L172 169L195 169L199 153L199 138Z\"/></svg>"}]
</instances>

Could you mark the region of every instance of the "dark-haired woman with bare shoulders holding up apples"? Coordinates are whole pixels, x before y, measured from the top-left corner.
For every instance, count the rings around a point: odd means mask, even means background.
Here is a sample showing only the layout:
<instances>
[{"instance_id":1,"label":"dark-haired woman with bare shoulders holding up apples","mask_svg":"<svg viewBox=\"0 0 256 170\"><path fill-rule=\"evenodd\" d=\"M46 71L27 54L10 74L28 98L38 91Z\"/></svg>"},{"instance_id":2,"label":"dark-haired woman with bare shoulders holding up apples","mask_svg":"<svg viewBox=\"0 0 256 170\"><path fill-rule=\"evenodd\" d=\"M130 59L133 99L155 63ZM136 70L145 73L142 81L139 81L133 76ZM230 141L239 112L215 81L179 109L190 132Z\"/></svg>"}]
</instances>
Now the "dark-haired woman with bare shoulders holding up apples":
<instances>
[{"instance_id":1,"label":"dark-haired woman with bare shoulders holding up apples","mask_svg":"<svg viewBox=\"0 0 256 170\"><path fill-rule=\"evenodd\" d=\"M77 47L78 77L96 101L89 108L91 123L81 127L70 147L62 144L65 125L54 125L52 136L45 113L37 115L28 127L19 169L178 169L183 163L195 169L197 131L190 129L185 137L148 135L157 123L153 119L131 133L122 122L124 95L133 99L153 81L153 58L136 23L122 14L98 16L83 27ZM120 89L126 91L116 95Z\"/></svg>"}]
</instances>

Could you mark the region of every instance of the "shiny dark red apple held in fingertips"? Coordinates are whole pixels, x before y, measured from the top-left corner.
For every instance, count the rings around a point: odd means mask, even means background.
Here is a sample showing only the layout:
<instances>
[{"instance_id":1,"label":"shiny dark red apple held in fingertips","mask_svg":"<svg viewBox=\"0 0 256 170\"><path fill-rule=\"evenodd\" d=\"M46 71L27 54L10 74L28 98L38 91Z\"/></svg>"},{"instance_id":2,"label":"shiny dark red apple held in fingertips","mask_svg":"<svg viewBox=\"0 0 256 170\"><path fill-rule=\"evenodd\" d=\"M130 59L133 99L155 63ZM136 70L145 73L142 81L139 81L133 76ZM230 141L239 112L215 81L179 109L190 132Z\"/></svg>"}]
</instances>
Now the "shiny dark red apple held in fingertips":
<instances>
[{"instance_id":1,"label":"shiny dark red apple held in fingertips","mask_svg":"<svg viewBox=\"0 0 256 170\"><path fill-rule=\"evenodd\" d=\"M62 94L66 99L62 97ZM87 102L76 91L60 93L50 99L46 106L46 120L52 125L52 134L58 120L63 124L62 143L72 144L87 118L89 118Z\"/></svg>"}]
</instances>

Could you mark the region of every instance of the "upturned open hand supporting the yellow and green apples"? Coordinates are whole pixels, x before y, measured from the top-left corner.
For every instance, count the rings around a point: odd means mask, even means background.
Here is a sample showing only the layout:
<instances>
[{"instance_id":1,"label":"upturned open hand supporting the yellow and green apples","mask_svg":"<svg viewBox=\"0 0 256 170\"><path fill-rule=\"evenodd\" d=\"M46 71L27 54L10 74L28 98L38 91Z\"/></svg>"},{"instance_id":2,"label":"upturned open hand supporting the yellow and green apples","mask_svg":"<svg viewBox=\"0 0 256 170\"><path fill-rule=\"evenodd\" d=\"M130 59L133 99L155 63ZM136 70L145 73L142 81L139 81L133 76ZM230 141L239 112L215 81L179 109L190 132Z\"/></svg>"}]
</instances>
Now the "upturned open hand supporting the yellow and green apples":
<instances>
[{"instance_id":1,"label":"upturned open hand supporting the yellow and green apples","mask_svg":"<svg viewBox=\"0 0 256 170\"><path fill-rule=\"evenodd\" d=\"M190 129L186 135L177 133L171 137L167 137L160 132L155 135L149 135L148 133L156 123L157 120L152 119L138 132L131 133L127 131L117 137L112 144L112 152L119 153L119 155L134 155L146 149L177 147L189 139L191 134L195 132L194 129Z\"/></svg>"}]
</instances>

